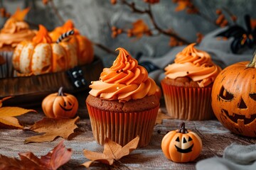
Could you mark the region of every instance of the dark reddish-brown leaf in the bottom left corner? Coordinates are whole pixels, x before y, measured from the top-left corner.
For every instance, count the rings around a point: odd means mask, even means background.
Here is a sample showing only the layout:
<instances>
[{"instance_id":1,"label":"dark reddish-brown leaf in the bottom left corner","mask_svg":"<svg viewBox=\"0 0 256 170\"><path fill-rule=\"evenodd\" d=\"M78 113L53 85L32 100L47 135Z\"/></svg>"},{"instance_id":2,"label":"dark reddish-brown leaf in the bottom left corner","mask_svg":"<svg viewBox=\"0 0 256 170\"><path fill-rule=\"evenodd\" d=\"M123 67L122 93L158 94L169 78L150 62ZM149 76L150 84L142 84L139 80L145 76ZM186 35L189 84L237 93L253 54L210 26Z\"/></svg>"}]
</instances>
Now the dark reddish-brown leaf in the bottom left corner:
<instances>
[{"instance_id":1,"label":"dark reddish-brown leaf in the bottom left corner","mask_svg":"<svg viewBox=\"0 0 256 170\"><path fill-rule=\"evenodd\" d=\"M21 159L10 158L0 154L1 169L36 169L36 170L55 170L66 164L72 155L72 149L65 149L64 140L48 154L40 159L32 152L18 154Z\"/></svg>"}]
</instances>

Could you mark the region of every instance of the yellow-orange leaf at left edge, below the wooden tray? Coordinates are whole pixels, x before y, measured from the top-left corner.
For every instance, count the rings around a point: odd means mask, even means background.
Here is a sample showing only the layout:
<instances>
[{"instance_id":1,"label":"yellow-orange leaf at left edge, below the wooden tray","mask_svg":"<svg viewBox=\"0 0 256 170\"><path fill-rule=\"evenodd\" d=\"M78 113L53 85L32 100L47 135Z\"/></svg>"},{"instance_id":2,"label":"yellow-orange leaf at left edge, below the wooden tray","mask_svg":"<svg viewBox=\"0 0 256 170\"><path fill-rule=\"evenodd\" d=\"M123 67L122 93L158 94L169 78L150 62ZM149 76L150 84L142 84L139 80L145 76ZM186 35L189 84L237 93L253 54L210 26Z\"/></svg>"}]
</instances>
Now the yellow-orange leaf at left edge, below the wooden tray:
<instances>
[{"instance_id":1,"label":"yellow-orange leaf at left edge, below the wooden tray","mask_svg":"<svg viewBox=\"0 0 256 170\"><path fill-rule=\"evenodd\" d=\"M23 128L23 126L18 123L18 119L14 118L13 116L23 115L28 112L36 111L19 107L1 107L3 101L6 101L9 98L11 97L6 97L0 100L0 123L11 127Z\"/></svg>"}]
</instances>

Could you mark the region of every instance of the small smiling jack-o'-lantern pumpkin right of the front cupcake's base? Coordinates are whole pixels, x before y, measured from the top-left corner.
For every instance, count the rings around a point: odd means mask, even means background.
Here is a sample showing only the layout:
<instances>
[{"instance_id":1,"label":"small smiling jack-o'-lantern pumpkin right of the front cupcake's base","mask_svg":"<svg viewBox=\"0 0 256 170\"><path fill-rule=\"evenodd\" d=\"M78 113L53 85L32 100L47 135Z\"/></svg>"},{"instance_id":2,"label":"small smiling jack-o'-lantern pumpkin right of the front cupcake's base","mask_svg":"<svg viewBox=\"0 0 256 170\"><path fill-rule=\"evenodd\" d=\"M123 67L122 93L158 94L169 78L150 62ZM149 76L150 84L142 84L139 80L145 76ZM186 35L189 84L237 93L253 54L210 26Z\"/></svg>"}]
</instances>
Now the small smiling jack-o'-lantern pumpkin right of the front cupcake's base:
<instances>
[{"instance_id":1,"label":"small smiling jack-o'-lantern pumpkin right of the front cupcake's base","mask_svg":"<svg viewBox=\"0 0 256 170\"><path fill-rule=\"evenodd\" d=\"M164 156L173 162L192 162L202 150L201 138L196 133L186 130L181 123L178 130L168 132L161 141Z\"/></svg>"}]
</instances>

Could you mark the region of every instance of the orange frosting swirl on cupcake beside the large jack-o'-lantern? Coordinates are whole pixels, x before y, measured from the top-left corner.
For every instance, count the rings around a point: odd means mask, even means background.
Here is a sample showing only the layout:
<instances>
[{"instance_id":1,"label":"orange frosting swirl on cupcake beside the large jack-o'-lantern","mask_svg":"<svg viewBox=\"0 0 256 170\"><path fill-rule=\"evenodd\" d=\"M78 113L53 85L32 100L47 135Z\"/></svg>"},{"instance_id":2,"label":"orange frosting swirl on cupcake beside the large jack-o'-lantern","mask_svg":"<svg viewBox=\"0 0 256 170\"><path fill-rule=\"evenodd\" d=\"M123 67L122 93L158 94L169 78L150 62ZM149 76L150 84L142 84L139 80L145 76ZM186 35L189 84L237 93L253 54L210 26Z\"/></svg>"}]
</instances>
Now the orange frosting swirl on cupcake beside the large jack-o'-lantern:
<instances>
[{"instance_id":1,"label":"orange frosting swirl on cupcake beside the large jack-o'-lantern","mask_svg":"<svg viewBox=\"0 0 256 170\"><path fill-rule=\"evenodd\" d=\"M166 77L176 79L177 77L190 77L200 87L211 84L221 69L210 59L210 55L202 50L197 50L195 43L188 45L178 52L173 64L165 67Z\"/></svg>"}]
</instances>

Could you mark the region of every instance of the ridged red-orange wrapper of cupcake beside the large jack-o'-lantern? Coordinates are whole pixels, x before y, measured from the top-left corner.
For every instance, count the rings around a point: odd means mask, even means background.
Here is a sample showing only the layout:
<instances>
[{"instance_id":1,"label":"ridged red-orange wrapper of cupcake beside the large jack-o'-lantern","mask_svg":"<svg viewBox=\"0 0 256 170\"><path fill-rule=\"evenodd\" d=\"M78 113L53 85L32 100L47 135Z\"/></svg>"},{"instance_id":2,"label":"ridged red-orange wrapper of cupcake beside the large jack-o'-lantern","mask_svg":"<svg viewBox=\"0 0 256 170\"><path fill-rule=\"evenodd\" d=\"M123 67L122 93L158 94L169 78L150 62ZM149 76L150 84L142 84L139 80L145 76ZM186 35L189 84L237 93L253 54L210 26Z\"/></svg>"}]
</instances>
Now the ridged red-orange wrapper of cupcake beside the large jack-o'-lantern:
<instances>
[{"instance_id":1,"label":"ridged red-orange wrapper of cupcake beside the large jack-o'-lantern","mask_svg":"<svg viewBox=\"0 0 256 170\"><path fill-rule=\"evenodd\" d=\"M214 118L211 108L211 87L192 88L171 86L161 82L168 115L182 120Z\"/></svg>"}]
</instances>

